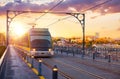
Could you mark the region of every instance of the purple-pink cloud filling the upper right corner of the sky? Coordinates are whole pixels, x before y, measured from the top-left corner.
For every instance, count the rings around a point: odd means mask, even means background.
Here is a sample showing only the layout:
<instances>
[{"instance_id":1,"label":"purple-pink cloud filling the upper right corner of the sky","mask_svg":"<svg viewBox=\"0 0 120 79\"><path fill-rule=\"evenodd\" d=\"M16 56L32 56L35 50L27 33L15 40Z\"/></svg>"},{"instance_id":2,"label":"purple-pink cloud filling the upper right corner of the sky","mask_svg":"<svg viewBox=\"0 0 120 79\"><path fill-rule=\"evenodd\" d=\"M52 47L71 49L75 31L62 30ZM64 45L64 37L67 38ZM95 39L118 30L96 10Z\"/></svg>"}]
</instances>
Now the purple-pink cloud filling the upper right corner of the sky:
<instances>
[{"instance_id":1,"label":"purple-pink cloud filling the upper right corner of the sky","mask_svg":"<svg viewBox=\"0 0 120 79\"><path fill-rule=\"evenodd\" d=\"M99 5L101 3L103 4ZM66 0L66 2L62 3L61 6L59 6L59 9L66 11L68 7L74 7L77 11L81 12L95 6L90 10L101 13L115 13L120 12L119 4L120 0ZM107 10L107 12L105 9Z\"/></svg>"}]
</instances>

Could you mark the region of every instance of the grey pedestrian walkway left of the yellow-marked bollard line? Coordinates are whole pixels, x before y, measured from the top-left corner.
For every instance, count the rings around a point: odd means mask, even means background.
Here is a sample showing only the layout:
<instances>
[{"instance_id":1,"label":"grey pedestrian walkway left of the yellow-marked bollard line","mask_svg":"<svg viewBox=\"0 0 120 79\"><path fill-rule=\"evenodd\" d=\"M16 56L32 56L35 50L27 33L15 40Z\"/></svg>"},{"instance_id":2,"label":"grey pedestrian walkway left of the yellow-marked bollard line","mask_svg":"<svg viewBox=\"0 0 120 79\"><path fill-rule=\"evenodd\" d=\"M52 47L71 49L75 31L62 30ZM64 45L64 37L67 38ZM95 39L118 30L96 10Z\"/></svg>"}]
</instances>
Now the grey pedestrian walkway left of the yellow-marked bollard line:
<instances>
[{"instance_id":1,"label":"grey pedestrian walkway left of the yellow-marked bollard line","mask_svg":"<svg viewBox=\"0 0 120 79\"><path fill-rule=\"evenodd\" d=\"M18 56L12 46L8 52L5 79L39 79L39 77Z\"/></svg>"}]
</instances>

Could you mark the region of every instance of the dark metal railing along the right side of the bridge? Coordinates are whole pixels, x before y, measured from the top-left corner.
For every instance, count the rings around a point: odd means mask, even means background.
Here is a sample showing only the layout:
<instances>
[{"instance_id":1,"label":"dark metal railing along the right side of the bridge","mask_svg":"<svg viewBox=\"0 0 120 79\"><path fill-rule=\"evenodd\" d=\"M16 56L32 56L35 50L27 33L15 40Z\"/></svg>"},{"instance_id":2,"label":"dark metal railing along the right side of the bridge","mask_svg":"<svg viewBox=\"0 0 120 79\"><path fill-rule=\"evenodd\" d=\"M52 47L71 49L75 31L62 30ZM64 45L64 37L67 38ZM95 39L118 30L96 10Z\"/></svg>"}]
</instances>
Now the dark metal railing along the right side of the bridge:
<instances>
[{"instance_id":1,"label":"dark metal railing along the right side of the bridge","mask_svg":"<svg viewBox=\"0 0 120 79\"><path fill-rule=\"evenodd\" d=\"M54 46L54 51L59 54L67 54L72 56L81 56L82 55L82 47L77 46ZM95 55L94 55L95 54ZM85 56L89 58L98 58L98 59L110 59L112 61L120 61L120 48L95 48L85 49Z\"/></svg>"}]
</instances>

